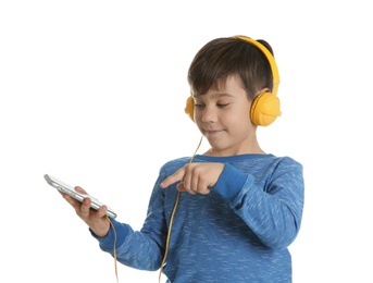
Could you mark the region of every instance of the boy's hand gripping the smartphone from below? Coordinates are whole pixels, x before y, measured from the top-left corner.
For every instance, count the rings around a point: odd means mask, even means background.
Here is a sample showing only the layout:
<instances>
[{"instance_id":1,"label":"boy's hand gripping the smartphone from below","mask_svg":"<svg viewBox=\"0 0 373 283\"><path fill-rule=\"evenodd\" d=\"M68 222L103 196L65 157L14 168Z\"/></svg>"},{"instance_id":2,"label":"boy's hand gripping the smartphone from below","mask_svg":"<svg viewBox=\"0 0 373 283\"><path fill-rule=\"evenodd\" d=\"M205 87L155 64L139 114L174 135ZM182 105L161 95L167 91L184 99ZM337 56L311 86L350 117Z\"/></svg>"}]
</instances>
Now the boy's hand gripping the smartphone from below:
<instances>
[{"instance_id":1,"label":"boy's hand gripping the smartphone from below","mask_svg":"<svg viewBox=\"0 0 373 283\"><path fill-rule=\"evenodd\" d=\"M82 187L76 186L75 190L87 194ZM83 202L61 193L63 198L75 209L76 214L94 231L99 237L104 237L109 233L110 222L107 218L107 206L101 206L99 210L90 208L90 198L87 197Z\"/></svg>"}]
</instances>

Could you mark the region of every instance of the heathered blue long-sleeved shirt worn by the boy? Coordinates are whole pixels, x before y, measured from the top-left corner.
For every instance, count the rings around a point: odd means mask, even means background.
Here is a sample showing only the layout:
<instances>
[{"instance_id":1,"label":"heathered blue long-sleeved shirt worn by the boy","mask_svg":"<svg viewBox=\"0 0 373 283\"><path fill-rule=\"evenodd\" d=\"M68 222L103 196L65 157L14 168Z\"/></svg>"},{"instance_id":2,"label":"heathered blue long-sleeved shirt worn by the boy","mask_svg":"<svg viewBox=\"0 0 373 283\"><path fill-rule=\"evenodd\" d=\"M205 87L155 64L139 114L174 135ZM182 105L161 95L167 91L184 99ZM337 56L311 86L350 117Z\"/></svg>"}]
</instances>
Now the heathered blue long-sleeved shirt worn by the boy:
<instances>
[{"instance_id":1,"label":"heathered blue long-sleeved shirt worn by the boy","mask_svg":"<svg viewBox=\"0 0 373 283\"><path fill-rule=\"evenodd\" d=\"M140 231L112 220L120 262L159 270L176 184L159 184L190 158L169 161L161 170ZM221 162L224 170L208 195L181 193L163 268L167 282L291 282L287 247L301 223L304 184L302 165L289 157L197 155L194 162ZM113 255L114 232L97 237Z\"/></svg>"}]
</instances>

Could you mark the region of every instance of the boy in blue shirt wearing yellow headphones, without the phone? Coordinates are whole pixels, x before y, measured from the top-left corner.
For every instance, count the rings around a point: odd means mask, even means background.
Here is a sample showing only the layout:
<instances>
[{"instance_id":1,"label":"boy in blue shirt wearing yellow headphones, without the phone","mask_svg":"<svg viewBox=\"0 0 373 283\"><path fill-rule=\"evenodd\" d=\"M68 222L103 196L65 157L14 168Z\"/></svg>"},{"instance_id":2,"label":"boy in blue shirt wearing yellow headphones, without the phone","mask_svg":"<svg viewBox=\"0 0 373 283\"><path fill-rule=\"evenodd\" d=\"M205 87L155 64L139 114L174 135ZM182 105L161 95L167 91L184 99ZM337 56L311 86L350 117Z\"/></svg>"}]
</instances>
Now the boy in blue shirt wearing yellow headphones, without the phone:
<instances>
[{"instance_id":1,"label":"boy in blue shirt wearing yellow headphones, without the phone","mask_svg":"<svg viewBox=\"0 0 373 283\"><path fill-rule=\"evenodd\" d=\"M301 223L302 165L265 153L256 135L279 115L271 47L214 39L196 54L188 82L186 112L211 148L160 169L140 231L108 221L105 207L90 210L89 198L64 198L102 250L128 267L160 269L167 282L291 282L287 247Z\"/></svg>"}]
</instances>

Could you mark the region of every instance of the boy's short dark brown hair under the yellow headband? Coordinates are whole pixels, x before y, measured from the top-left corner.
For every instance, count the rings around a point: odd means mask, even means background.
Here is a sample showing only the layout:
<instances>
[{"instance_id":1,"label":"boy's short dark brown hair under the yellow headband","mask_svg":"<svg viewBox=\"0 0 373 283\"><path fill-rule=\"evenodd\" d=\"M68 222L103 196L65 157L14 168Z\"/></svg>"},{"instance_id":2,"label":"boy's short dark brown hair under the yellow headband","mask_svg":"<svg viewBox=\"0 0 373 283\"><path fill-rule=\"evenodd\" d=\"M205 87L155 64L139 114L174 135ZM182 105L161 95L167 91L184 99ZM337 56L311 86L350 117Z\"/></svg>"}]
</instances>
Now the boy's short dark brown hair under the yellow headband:
<instances>
[{"instance_id":1,"label":"boy's short dark brown hair under the yellow headband","mask_svg":"<svg viewBox=\"0 0 373 283\"><path fill-rule=\"evenodd\" d=\"M273 54L265 40L257 40ZM249 100L268 87L272 90L270 62L256 46L238 38L216 38L206 44L195 56L188 71L192 95L204 95L210 88L219 89L231 75L238 75Z\"/></svg>"}]
</instances>

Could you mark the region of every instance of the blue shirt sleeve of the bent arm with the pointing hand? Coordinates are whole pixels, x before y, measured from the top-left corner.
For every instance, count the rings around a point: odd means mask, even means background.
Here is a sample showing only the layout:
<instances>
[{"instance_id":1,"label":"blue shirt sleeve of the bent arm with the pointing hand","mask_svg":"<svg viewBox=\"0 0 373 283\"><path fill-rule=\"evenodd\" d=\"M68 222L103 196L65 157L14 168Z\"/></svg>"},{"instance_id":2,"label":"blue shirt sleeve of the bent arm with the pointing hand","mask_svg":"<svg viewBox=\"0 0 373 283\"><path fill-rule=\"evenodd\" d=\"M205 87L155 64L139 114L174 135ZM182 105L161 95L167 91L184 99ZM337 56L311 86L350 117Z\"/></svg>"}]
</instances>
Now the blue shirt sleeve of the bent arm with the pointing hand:
<instances>
[{"instance_id":1,"label":"blue shirt sleeve of the bent arm with the pointing hand","mask_svg":"<svg viewBox=\"0 0 373 283\"><path fill-rule=\"evenodd\" d=\"M303 209L303 176L300 163L284 158L268 173L264 183L226 163L212 189L271 248L286 248L296 238Z\"/></svg>"}]
</instances>

